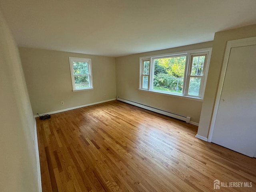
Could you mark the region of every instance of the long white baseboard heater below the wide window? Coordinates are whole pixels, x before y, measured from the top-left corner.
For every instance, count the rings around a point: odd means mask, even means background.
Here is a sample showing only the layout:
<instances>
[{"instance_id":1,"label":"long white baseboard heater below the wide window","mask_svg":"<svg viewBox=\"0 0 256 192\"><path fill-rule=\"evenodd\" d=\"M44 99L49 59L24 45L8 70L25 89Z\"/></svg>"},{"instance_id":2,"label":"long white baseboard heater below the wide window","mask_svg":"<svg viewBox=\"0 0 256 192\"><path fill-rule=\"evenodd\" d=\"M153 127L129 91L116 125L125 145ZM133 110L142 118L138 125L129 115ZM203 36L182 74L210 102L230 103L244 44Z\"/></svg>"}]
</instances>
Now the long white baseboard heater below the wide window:
<instances>
[{"instance_id":1,"label":"long white baseboard heater below the wide window","mask_svg":"<svg viewBox=\"0 0 256 192\"><path fill-rule=\"evenodd\" d=\"M134 106L144 108L144 109L156 112L156 113L160 113L160 114L163 114L163 115L166 115L166 116L169 116L169 117L173 117L173 118L185 121L186 123L190 123L190 117L188 117L188 116L184 116L184 115L180 115L180 114L173 113L173 112L170 112L170 111L154 108L154 107L151 107L151 106L140 104L140 103L130 101L128 99L124 99L124 98L120 98L120 97L116 97L116 100L126 102L128 104L132 104Z\"/></svg>"}]
</instances>

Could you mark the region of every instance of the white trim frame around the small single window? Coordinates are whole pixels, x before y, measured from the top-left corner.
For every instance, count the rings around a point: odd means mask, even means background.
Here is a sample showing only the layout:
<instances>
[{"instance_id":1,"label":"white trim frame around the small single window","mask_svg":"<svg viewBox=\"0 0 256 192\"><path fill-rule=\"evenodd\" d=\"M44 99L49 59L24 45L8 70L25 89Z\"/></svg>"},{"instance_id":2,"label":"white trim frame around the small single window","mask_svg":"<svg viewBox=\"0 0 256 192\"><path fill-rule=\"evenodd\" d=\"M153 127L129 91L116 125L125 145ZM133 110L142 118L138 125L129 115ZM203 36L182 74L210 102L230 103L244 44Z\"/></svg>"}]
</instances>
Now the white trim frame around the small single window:
<instances>
[{"instance_id":1,"label":"white trim frame around the small single window","mask_svg":"<svg viewBox=\"0 0 256 192\"><path fill-rule=\"evenodd\" d=\"M71 74L71 81L72 81L72 90L73 92L76 91L83 91L83 90L93 90L93 82L92 82L92 60L88 58L79 58L79 57L68 57L69 58L69 65L70 65L70 74ZM88 72L89 72L89 87L88 88L80 88L77 89L75 86L75 77L74 77L74 69L73 69L73 61L75 62L87 62L88 63Z\"/></svg>"}]
</instances>

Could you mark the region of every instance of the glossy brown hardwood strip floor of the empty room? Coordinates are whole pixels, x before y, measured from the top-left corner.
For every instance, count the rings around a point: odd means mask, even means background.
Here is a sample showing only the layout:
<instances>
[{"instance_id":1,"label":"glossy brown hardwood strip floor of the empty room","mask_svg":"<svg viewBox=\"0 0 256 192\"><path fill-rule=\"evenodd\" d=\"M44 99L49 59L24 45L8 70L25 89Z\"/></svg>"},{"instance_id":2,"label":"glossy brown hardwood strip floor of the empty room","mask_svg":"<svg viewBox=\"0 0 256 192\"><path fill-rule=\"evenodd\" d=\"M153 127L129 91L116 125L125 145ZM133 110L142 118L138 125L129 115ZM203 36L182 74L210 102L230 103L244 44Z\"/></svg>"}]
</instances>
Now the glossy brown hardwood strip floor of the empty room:
<instances>
[{"instance_id":1,"label":"glossy brown hardwood strip floor of the empty room","mask_svg":"<svg viewBox=\"0 0 256 192\"><path fill-rule=\"evenodd\" d=\"M36 118L43 192L256 191L256 159L119 101ZM214 190L220 182L251 188Z\"/></svg>"}]
</instances>

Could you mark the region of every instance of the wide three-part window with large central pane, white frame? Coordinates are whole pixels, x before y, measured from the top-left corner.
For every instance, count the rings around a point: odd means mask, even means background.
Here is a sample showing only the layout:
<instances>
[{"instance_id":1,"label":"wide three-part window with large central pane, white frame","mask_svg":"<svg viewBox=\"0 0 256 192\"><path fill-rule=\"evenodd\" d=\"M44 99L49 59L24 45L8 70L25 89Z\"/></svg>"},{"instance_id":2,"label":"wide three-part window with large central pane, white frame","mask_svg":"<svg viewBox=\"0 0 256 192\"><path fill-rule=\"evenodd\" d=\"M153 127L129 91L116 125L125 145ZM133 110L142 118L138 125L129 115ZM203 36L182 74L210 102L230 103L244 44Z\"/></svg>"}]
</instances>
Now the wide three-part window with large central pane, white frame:
<instances>
[{"instance_id":1,"label":"wide three-part window with large central pane, white frame","mask_svg":"<svg viewBox=\"0 0 256 192\"><path fill-rule=\"evenodd\" d=\"M140 58L141 90L203 98L211 48Z\"/></svg>"}]
</instances>

